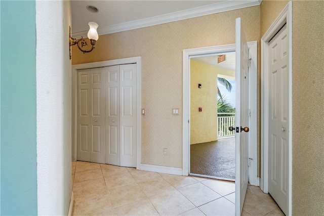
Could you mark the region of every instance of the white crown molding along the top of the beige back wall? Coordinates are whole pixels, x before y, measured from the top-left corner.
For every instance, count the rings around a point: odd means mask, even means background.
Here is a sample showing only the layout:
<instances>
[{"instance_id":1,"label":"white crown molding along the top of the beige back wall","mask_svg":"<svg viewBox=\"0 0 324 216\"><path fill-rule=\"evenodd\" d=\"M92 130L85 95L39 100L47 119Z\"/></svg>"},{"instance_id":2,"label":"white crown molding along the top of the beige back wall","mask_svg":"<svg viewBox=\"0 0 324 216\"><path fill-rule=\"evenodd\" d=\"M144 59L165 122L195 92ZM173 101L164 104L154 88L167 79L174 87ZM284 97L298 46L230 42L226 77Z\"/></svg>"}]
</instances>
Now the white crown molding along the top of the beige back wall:
<instances>
[{"instance_id":1,"label":"white crown molding along the top of the beige back wall","mask_svg":"<svg viewBox=\"0 0 324 216\"><path fill-rule=\"evenodd\" d=\"M141 20L134 20L126 23L120 23L116 25L111 26L105 26L105 27L99 27L98 28L98 34L110 34L120 31L127 31L137 28L143 28L148 26L154 26L194 17L200 17L200 16L206 16L210 14L216 14L241 8L247 8L252 6L258 6L260 5L261 0L250 0L250 1L224 1L219 2L211 5L206 5L198 8L188 9L184 11L174 12L170 14L145 18ZM81 31L81 32L75 32L72 33L72 37L78 38L78 37L87 37L87 31Z\"/></svg>"}]
</instances>

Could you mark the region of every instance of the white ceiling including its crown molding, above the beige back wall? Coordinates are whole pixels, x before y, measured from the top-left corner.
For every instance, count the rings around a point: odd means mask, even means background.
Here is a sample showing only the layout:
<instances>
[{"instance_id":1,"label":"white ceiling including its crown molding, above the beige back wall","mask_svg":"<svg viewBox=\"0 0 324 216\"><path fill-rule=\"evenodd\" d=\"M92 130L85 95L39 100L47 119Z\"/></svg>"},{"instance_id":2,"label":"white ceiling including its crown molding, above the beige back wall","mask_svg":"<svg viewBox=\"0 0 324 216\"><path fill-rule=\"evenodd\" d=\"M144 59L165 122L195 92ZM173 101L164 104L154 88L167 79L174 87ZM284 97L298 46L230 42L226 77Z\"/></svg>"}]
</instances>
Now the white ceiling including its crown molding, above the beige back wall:
<instances>
[{"instance_id":1,"label":"white ceiling including its crown molding, above the beige back wall","mask_svg":"<svg viewBox=\"0 0 324 216\"><path fill-rule=\"evenodd\" d=\"M90 21L98 23L98 34L109 34L141 27L158 25L192 17L215 14L260 5L261 0L209 1L71 1L72 36L87 37ZM87 6L99 11L92 13Z\"/></svg>"}]
</instances>

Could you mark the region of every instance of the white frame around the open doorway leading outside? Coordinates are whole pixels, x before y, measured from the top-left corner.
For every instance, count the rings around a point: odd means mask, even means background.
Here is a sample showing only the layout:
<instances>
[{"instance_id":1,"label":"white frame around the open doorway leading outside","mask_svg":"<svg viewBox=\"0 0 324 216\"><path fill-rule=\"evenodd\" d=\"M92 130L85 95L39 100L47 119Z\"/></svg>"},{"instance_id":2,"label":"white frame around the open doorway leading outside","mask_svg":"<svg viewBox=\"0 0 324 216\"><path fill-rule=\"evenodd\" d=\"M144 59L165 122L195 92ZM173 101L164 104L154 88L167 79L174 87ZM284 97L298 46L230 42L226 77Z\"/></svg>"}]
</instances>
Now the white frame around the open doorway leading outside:
<instances>
[{"instance_id":1,"label":"white frame around the open doorway leading outside","mask_svg":"<svg viewBox=\"0 0 324 216\"><path fill-rule=\"evenodd\" d=\"M251 55L251 67L250 67L250 132L249 132L249 157L253 160L249 167L249 181L251 185L259 185L257 178L257 41L248 42ZM194 48L183 50L183 116L182 116L182 128L183 128L183 144L182 144L182 175L189 175L189 154L190 154L190 57L206 54L227 53L235 52L235 44Z\"/></svg>"}]
</instances>

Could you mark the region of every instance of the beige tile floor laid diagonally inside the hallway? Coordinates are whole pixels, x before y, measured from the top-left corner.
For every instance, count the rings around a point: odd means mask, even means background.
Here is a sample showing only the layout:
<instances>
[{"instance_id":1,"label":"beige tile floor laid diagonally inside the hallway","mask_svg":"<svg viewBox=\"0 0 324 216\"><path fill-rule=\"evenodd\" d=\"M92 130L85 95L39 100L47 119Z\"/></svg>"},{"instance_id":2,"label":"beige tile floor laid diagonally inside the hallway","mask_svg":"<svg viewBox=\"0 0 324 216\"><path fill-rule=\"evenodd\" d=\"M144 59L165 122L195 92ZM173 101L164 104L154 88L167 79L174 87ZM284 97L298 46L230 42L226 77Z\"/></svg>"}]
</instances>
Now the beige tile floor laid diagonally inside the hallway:
<instances>
[{"instance_id":1,"label":"beige tile floor laid diagonally inside the hallway","mask_svg":"<svg viewBox=\"0 0 324 216\"><path fill-rule=\"evenodd\" d=\"M72 161L72 215L234 215L232 182ZM249 186L242 215L284 215Z\"/></svg>"}]
</instances>

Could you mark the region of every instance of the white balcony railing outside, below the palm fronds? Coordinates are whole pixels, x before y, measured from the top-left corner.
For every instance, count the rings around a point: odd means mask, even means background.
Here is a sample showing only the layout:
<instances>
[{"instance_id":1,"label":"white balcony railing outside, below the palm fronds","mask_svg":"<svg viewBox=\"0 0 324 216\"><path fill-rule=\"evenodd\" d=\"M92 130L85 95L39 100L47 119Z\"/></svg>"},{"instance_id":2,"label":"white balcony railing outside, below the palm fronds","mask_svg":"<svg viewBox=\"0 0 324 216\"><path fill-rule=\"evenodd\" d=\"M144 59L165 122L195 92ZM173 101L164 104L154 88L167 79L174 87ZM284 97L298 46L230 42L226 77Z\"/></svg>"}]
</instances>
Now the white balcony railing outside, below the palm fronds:
<instances>
[{"instance_id":1,"label":"white balcony railing outside, below the palm fronds","mask_svg":"<svg viewBox=\"0 0 324 216\"><path fill-rule=\"evenodd\" d=\"M234 131L229 131L229 126L235 127L235 112L222 112L218 115L218 138L235 137Z\"/></svg>"}]
</instances>

